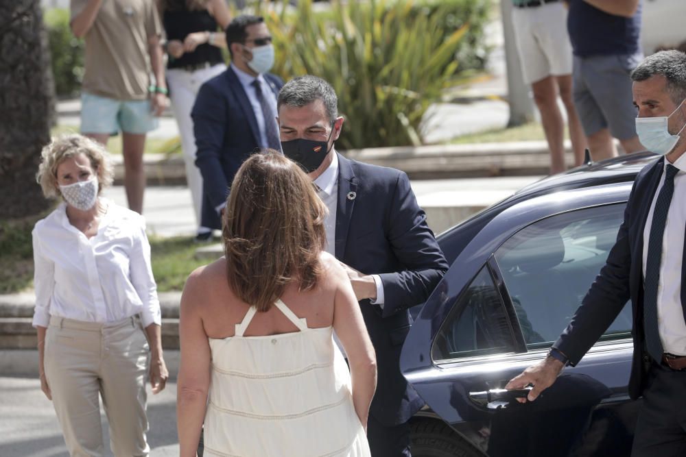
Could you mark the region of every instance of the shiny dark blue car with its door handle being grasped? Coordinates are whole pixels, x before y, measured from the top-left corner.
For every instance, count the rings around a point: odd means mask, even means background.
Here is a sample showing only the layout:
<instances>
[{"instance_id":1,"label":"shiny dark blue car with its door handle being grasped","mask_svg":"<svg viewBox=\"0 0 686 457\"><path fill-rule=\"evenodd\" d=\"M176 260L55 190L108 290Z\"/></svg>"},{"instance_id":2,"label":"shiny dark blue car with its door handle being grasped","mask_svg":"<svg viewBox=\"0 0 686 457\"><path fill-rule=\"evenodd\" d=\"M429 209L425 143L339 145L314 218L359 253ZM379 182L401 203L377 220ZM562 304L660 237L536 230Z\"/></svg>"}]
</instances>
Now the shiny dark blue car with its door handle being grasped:
<instances>
[{"instance_id":1,"label":"shiny dark blue car with its door handle being grasped","mask_svg":"<svg viewBox=\"0 0 686 457\"><path fill-rule=\"evenodd\" d=\"M630 454L639 407L628 397L630 306L536 402L502 388L569 323L615 243L635 176L654 158L548 177L438 237L451 267L401 356L427 402L412 419L413 456Z\"/></svg>"}]
</instances>

